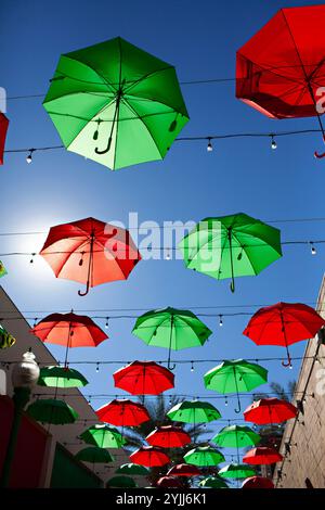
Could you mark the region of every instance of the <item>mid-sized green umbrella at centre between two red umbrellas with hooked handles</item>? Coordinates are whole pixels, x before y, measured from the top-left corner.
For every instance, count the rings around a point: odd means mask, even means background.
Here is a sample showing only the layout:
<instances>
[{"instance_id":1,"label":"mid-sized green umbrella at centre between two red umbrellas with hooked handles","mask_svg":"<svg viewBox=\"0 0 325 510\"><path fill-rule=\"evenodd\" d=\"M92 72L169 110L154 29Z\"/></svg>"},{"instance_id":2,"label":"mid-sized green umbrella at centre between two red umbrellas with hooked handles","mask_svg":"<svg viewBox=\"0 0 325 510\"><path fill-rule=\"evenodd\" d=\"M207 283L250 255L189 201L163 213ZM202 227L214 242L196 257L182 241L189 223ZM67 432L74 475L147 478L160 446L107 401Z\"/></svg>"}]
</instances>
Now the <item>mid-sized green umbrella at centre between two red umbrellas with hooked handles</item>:
<instances>
[{"instance_id":1,"label":"mid-sized green umbrella at centre between two red umbrellas with hooked handles","mask_svg":"<svg viewBox=\"0 0 325 510\"><path fill-rule=\"evenodd\" d=\"M192 311L164 308L151 310L139 317L132 333L147 345L168 347L168 368L170 352L204 345L212 334Z\"/></svg>"}]
</instances>

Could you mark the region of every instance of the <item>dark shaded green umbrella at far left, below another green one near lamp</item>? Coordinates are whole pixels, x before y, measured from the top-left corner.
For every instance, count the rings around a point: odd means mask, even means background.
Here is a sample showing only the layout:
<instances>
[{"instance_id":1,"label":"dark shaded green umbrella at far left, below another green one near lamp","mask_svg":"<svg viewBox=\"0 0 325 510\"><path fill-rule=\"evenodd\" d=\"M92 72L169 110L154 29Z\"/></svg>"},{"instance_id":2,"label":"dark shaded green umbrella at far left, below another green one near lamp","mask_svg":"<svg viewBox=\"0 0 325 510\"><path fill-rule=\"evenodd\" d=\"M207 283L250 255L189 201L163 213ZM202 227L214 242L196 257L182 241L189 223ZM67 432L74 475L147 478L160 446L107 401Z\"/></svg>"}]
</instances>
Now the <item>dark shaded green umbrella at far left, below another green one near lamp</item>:
<instances>
[{"instance_id":1,"label":"dark shaded green umbrella at far left, below another green one near lamp","mask_svg":"<svg viewBox=\"0 0 325 510\"><path fill-rule=\"evenodd\" d=\"M54 398L34 401L28 406L27 415L42 423L53 423L55 425L74 423L79 418L75 409L68 404Z\"/></svg>"}]
</instances>

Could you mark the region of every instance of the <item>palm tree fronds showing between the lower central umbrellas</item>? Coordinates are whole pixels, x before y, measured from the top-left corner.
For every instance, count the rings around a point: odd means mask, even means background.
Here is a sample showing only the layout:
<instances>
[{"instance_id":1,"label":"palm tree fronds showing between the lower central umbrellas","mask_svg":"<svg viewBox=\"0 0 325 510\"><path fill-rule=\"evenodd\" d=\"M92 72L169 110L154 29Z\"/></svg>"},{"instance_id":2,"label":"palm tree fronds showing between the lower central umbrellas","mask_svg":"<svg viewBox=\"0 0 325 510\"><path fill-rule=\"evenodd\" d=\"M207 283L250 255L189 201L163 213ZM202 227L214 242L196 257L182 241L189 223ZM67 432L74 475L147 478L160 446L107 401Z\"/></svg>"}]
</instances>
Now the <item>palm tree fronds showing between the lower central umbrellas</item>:
<instances>
[{"instance_id":1,"label":"palm tree fronds showing between the lower central umbrellas","mask_svg":"<svg viewBox=\"0 0 325 510\"><path fill-rule=\"evenodd\" d=\"M170 399L167 400L164 395L157 395L155 398L147 399L139 397L139 400L141 404L144 403L151 419L142 423L140 426L125 429L123 435L128 442L128 445L125 447L125 449L129 450L129 452L133 451L135 448L140 448L141 446L145 446L145 437L156 426L170 425L171 421L167 417L167 412L171 407L182 401L183 398L171 396ZM197 444L203 443L203 441L200 441L203 434L211 434L213 432L212 430L207 429L205 423L184 424L173 422L173 424L176 426L183 426L184 431L187 432L187 434L191 436L192 443L191 445L186 445L186 450L191 449L191 447L194 447L194 444L197 446ZM183 462L184 454L184 448L169 448L168 450L168 455L173 463ZM148 475L148 480L152 485L155 485L160 476L166 475L168 469L169 468L165 466L159 468L152 468ZM209 474L211 474L211 470L209 470ZM186 484L188 484L188 481L184 482L184 486Z\"/></svg>"}]
</instances>

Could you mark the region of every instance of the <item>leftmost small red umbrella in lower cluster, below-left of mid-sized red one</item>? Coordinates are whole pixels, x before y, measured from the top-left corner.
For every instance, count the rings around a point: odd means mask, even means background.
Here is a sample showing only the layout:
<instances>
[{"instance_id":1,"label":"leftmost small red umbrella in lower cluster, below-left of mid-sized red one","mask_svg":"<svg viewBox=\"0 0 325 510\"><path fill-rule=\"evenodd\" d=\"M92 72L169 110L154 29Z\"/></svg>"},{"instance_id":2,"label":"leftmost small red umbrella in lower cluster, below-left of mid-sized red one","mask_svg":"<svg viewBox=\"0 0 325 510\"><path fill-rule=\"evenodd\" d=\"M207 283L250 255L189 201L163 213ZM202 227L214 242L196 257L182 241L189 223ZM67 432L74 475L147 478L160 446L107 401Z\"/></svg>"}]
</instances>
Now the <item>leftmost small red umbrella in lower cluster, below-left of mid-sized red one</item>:
<instances>
[{"instance_id":1,"label":"leftmost small red umbrella in lower cluster, below-left of mid-sized red one","mask_svg":"<svg viewBox=\"0 0 325 510\"><path fill-rule=\"evenodd\" d=\"M145 407L127 398L105 404L96 415L100 421L117 426L138 426L151 419Z\"/></svg>"}]
</instances>

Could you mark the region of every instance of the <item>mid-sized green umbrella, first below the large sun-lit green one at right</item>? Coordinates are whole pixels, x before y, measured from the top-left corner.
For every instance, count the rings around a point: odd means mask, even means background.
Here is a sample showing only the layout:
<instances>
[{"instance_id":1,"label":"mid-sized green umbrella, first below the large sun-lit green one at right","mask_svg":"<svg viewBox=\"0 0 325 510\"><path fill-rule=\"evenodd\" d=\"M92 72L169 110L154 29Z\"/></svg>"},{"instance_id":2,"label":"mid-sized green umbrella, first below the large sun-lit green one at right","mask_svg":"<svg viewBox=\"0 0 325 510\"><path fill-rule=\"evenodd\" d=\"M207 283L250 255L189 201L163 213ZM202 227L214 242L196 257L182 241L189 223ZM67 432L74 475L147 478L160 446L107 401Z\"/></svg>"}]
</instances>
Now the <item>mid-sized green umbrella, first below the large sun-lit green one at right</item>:
<instances>
[{"instance_id":1,"label":"mid-sized green umbrella, first below the large sun-lit green one at right","mask_svg":"<svg viewBox=\"0 0 325 510\"><path fill-rule=\"evenodd\" d=\"M245 359L226 360L209 370L204 375L204 381L207 390L222 394L236 393L238 409L235 409L235 412L240 412L239 392L250 392L255 387L265 384L268 370Z\"/></svg>"}]
</instances>

